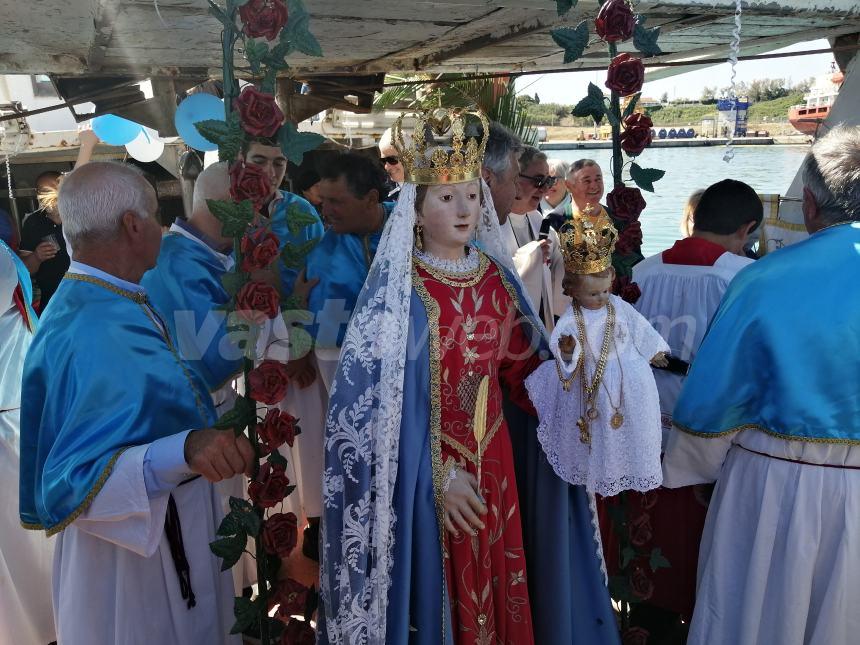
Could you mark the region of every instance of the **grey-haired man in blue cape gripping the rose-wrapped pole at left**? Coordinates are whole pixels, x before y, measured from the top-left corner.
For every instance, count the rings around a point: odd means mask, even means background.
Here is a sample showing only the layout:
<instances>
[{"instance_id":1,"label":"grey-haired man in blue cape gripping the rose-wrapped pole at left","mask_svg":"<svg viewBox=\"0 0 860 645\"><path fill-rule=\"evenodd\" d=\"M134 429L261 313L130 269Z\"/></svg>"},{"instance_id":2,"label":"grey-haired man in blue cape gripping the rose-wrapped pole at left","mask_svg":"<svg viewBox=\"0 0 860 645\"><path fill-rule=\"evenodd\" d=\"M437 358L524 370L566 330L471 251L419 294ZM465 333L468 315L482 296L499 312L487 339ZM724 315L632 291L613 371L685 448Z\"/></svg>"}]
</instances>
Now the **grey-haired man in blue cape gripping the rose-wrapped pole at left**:
<instances>
[{"instance_id":1,"label":"grey-haired man in blue cape gripping the rose-wrapped pole at left","mask_svg":"<svg viewBox=\"0 0 860 645\"><path fill-rule=\"evenodd\" d=\"M161 246L155 191L91 163L60 190L75 261L24 366L20 515L57 534L58 641L238 643L232 582L209 542L212 482L250 472L245 437L211 426L205 381L140 286Z\"/></svg>"}]
</instances>

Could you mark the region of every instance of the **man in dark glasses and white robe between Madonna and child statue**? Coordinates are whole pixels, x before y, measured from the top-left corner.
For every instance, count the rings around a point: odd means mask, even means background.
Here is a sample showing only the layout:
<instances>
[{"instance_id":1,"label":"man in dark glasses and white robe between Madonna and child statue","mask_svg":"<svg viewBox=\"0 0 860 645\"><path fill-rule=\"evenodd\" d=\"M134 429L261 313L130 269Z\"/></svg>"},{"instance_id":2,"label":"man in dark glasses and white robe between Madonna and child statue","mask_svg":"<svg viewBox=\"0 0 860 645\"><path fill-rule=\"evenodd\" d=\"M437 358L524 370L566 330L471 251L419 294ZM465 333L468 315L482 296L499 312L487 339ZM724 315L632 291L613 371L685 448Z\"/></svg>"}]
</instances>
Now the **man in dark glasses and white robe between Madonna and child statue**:
<instances>
[{"instance_id":1,"label":"man in dark glasses and white robe between Madonna and child statue","mask_svg":"<svg viewBox=\"0 0 860 645\"><path fill-rule=\"evenodd\" d=\"M556 314L569 304L561 288L564 259L558 235L550 227L541 230L543 215L538 210L541 199L556 181L557 178L549 174L546 155L537 148L525 146L519 158L519 195L501 227L502 239L517 273L547 330L552 330Z\"/></svg>"}]
</instances>

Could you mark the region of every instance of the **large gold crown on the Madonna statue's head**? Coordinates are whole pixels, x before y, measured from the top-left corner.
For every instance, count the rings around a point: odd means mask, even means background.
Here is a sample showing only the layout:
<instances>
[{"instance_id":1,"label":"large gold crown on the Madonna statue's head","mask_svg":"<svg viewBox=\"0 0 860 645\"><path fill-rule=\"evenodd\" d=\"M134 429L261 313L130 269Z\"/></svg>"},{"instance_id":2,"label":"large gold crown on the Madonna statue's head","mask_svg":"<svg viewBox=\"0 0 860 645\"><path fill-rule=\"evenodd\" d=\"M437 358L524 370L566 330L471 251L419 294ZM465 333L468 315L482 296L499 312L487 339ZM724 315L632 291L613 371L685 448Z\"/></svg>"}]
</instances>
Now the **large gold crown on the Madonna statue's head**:
<instances>
[{"instance_id":1,"label":"large gold crown on the Madonna statue's head","mask_svg":"<svg viewBox=\"0 0 860 645\"><path fill-rule=\"evenodd\" d=\"M414 116L411 144L403 133L403 120ZM481 131L469 130L480 123ZM391 128L400 154L405 181L413 184L456 184L478 179L490 122L481 111L436 108L401 114ZM470 136L473 134L473 136Z\"/></svg>"}]
</instances>

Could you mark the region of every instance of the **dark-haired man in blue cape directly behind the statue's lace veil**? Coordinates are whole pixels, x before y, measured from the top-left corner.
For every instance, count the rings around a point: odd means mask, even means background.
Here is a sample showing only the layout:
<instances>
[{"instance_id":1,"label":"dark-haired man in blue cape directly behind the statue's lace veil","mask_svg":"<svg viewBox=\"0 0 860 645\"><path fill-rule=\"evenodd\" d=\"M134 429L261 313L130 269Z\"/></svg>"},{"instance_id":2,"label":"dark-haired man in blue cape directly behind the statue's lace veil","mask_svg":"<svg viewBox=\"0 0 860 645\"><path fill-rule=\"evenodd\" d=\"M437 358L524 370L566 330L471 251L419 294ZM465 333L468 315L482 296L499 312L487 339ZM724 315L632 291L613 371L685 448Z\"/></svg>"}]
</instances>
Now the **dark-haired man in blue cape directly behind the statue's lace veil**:
<instances>
[{"instance_id":1,"label":"dark-haired man in blue cape directly behind the statue's lace veil","mask_svg":"<svg viewBox=\"0 0 860 645\"><path fill-rule=\"evenodd\" d=\"M291 388L285 402L287 411L302 424L302 434L296 440L303 484L299 490L309 523L303 550L312 559L318 559L323 431L329 391L346 324L367 278L385 220L394 207L394 202L382 201L388 191L378 162L355 153L344 153L326 164L319 193L329 228L307 258L307 280L313 285L307 310L313 322L306 331L314 349L300 359L300 387Z\"/></svg>"}]
</instances>

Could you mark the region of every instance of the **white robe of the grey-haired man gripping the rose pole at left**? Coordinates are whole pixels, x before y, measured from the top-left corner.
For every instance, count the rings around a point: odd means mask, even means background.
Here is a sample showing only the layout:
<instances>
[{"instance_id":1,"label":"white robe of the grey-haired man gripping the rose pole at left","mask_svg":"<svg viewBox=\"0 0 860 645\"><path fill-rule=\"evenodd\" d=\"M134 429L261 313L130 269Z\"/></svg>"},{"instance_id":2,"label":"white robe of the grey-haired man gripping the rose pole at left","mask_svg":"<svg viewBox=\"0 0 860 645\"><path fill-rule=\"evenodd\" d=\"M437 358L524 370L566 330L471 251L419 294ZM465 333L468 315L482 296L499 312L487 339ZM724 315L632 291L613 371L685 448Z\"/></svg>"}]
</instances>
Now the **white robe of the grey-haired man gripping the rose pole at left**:
<instances>
[{"instance_id":1,"label":"white robe of the grey-haired man gripping the rose pole at left","mask_svg":"<svg viewBox=\"0 0 860 645\"><path fill-rule=\"evenodd\" d=\"M168 495L149 499L148 445L126 450L92 505L58 536L53 596L63 645L239 645L233 581L209 550L221 496L202 477L172 490L197 606L188 609L164 534Z\"/></svg>"}]
</instances>

